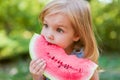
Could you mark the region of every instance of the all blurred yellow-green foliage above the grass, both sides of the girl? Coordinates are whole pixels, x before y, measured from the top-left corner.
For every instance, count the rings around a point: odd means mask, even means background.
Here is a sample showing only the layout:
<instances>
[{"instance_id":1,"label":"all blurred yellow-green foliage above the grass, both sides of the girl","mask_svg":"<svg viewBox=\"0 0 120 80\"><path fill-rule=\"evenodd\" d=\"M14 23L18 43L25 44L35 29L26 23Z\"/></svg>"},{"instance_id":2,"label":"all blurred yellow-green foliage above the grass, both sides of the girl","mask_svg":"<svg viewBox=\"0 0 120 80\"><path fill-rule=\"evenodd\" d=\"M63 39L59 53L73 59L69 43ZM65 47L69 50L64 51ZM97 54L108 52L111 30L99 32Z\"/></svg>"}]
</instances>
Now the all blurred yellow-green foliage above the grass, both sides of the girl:
<instances>
[{"instance_id":1,"label":"all blurred yellow-green foliage above the grass, both sides of the girl","mask_svg":"<svg viewBox=\"0 0 120 80\"><path fill-rule=\"evenodd\" d=\"M0 1L0 60L28 53L31 36L41 30L38 15L49 1ZM120 52L119 0L113 0L111 3L90 0L90 4L93 24L100 37L97 36L98 45L106 51Z\"/></svg>"}]
</instances>

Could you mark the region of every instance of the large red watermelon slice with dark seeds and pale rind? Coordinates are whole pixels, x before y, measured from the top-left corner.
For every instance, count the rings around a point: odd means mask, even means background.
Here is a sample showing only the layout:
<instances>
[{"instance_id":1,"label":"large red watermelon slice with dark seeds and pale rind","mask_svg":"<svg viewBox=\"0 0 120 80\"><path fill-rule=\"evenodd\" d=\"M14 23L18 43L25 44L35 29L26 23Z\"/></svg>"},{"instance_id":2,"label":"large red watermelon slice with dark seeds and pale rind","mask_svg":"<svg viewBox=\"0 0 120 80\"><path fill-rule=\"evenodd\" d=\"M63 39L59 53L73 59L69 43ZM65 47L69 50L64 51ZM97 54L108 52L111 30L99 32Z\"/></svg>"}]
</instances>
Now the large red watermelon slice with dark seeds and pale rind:
<instances>
[{"instance_id":1,"label":"large red watermelon slice with dark seeds and pale rind","mask_svg":"<svg viewBox=\"0 0 120 80\"><path fill-rule=\"evenodd\" d=\"M33 35L29 50L32 59L46 60L43 74L51 80L89 80L97 68L89 59L67 55L61 47L48 43L39 34Z\"/></svg>"}]
</instances>

